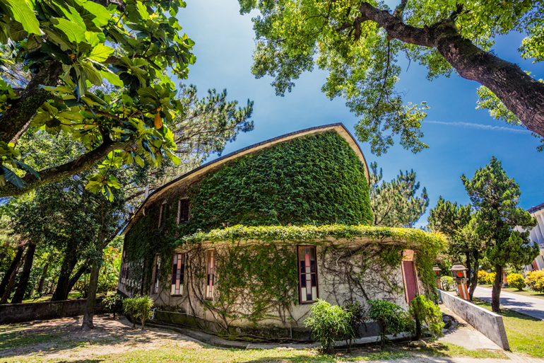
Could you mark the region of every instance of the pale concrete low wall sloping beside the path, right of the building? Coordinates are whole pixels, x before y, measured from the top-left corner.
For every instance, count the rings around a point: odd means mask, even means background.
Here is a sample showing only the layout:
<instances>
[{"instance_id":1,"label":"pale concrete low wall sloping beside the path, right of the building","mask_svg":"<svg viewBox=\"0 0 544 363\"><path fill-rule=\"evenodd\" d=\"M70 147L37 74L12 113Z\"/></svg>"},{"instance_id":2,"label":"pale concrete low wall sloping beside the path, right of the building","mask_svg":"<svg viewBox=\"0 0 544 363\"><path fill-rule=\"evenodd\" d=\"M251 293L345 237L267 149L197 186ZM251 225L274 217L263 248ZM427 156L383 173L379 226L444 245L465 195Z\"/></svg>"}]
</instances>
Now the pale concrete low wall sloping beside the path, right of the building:
<instances>
[{"instance_id":1,"label":"pale concrete low wall sloping beside the path, right of the building","mask_svg":"<svg viewBox=\"0 0 544 363\"><path fill-rule=\"evenodd\" d=\"M502 316L492 311L480 308L470 301L459 299L457 296L438 290L440 300L451 311L461 316L467 323L480 331L487 338L490 338L499 347L509 350L507 332L504 330Z\"/></svg>"}]
</instances>

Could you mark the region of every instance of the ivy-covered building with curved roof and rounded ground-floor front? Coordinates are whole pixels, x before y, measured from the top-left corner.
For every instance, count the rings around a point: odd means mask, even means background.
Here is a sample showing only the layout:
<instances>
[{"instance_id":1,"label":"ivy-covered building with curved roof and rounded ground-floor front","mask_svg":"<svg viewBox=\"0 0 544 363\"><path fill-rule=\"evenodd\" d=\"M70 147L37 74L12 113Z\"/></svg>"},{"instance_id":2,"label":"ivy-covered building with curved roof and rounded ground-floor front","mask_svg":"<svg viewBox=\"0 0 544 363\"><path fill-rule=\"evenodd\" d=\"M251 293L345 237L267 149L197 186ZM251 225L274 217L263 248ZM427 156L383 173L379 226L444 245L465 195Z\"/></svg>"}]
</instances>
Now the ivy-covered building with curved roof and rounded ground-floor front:
<instances>
[{"instance_id":1,"label":"ivy-covered building with curved roof and rounded ground-floor front","mask_svg":"<svg viewBox=\"0 0 544 363\"><path fill-rule=\"evenodd\" d=\"M342 124L292 132L162 186L124 230L119 292L155 318L222 334L303 337L311 304L435 294L442 238L369 226L369 171ZM371 333L371 332L369 332Z\"/></svg>"}]
</instances>

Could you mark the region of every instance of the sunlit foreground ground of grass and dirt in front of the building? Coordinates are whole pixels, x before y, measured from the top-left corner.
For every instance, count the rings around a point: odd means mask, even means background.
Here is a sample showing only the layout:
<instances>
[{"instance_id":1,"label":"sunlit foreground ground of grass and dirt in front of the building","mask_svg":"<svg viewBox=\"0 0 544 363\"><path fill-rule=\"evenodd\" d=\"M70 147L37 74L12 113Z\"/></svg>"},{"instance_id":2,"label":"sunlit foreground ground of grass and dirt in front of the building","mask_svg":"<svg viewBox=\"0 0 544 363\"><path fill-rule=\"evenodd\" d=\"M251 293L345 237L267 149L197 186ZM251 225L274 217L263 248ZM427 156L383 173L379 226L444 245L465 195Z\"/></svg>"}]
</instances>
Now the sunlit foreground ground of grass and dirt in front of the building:
<instances>
[{"instance_id":1,"label":"sunlit foreground ground of grass and dirt in front of the building","mask_svg":"<svg viewBox=\"0 0 544 363\"><path fill-rule=\"evenodd\" d=\"M117 328L84 333L79 330L79 324L79 321L73 323L66 318L58 323L51 321L47 326L37 326L36 323L0 325L0 362L336 363L417 358L422 355L505 358L499 351L466 350L437 341L429 342L425 348L397 344L386 345L384 350L376 346L353 349L351 353L337 350L335 355L322 355L315 349L222 349L187 341L173 332L165 337L166 330L142 332L119 324ZM128 351L108 351L110 347Z\"/></svg>"}]
</instances>

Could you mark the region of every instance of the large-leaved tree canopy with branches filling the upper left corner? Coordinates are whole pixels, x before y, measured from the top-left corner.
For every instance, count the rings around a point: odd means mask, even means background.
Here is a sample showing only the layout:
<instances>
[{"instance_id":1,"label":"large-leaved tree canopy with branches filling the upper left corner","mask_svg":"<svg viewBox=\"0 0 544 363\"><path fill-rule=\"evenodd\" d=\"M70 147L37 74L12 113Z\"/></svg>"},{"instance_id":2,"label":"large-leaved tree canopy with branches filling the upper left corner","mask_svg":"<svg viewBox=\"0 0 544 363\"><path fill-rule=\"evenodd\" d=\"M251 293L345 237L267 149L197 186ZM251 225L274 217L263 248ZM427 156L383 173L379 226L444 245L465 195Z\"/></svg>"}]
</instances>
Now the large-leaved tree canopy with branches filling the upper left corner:
<instances>
[{"instance_id":1,"label":"large-leaved tree canopy with branches filling the upper left corner","mask_svg":"<svg viewBox=\"0 0 544 363\"><path fill-rule=\"evenodd\" d=\"M0 43L9 48L0 62L0 196L78 173L115 150L110 166L179 161L168 125L183 105L169 71L185 79L195 61L194 42L179 33L175 18L183 6L179 0L0 0ZM15 149L28 127L69 132L85 151L36 173ZM28 173L21 179L16 169ZM103 170L89 186L109 196L118 185Z\"/></svg>"}]
</instances>

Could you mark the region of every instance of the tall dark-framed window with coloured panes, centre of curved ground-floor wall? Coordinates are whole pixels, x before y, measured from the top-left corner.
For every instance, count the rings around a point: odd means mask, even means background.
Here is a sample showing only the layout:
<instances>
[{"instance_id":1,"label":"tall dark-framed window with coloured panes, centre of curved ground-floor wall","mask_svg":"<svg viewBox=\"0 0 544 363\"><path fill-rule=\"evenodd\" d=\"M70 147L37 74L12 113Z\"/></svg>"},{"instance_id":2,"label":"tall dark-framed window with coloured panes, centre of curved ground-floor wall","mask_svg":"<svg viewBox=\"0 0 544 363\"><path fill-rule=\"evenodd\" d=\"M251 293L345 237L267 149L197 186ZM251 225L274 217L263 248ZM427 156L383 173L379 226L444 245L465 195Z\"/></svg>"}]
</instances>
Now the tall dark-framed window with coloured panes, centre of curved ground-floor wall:
<instances>
[{"instance_id":1,"label":"tall dark-framed window with coloured panes, centre of curved ground-floor wall","mask_svg":"<svg viewBox=\"0 0 544 363\"><path fill-rule=\"evenodd\" d=\"M314 246L299 246L299 289L300 303L316 301L317 296L317 260Z\"/></svg>"}]
</instances>

